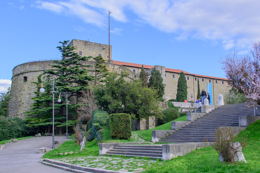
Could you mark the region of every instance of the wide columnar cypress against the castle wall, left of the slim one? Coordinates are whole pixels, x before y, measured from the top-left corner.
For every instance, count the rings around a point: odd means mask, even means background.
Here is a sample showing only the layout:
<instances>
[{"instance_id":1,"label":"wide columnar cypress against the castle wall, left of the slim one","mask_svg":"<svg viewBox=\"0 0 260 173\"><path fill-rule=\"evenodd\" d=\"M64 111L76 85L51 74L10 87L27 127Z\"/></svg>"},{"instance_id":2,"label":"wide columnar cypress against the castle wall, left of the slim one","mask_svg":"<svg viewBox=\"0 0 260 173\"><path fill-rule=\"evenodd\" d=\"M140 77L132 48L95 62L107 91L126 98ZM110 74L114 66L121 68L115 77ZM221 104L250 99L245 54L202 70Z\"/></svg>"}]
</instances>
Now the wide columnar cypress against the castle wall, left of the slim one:
<instances>
[{"instance_id":1,"label":"wide columnar cypress against the castle wall, left of the slim one","mask_svg":"<svg viewBox=\"0 0 260 173\"><path fill-rule=\"evenodd\" d=\"M178 85L177 85L177 95L176 100L178 102L183 102L187 99L188 95L188 86L187 86L187 80L185 78L185 75L183 72L181 72L180 77L178 79Z\"/></svg>"}]
</instances>

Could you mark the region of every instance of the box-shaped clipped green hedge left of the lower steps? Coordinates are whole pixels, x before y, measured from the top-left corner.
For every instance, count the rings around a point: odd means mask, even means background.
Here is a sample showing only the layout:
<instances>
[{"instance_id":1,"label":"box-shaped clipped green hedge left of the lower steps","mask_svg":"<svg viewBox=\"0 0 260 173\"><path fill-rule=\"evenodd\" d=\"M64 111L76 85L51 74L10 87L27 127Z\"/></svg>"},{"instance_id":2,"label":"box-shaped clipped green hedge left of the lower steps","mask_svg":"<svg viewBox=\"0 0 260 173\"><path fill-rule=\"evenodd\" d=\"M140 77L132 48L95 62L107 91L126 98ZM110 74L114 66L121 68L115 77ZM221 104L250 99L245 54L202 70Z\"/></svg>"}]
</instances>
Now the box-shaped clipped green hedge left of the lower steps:
<instances>
[{"instance_id":1,"label":"box-shaped clipped green hedge left of the lower steps","mask_svg":"<svg viewBox=\"0 0 260 173\"><path fill-rule=\"evenodd\" d=\"M109 127L113 139L128 139L131 137L131 118L129 114L110 114Z\"/></svg>"}]
</instances>

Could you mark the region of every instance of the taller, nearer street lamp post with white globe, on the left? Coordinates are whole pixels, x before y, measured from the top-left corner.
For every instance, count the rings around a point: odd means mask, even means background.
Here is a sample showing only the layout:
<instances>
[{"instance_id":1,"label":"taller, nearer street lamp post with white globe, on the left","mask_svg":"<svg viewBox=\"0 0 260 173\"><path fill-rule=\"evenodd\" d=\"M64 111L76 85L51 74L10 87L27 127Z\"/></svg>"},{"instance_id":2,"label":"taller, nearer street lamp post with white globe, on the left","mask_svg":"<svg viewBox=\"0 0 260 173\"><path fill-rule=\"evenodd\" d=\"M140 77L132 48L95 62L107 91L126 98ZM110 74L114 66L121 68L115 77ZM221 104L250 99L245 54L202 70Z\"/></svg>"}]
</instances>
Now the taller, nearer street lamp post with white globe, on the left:
<instances>
[{"instance_id":1,"label":"taller, nearer street lamp post with white globe, on the left","mask_svg":"<svg viewBox=\"0 0 260 173\"><path fill-rule=\"evenodd\" d=\"M54 75L52 76L52 78L44 77L42 79L41 88L40 88L41 93L44 93L45 91L43 88L43 82L45 84L51 85L51 93L52 93L52 147L51 148L55 148L54 146L54 94L56 93L56 91L54 90Z\"/></svg>"}]
</instances>

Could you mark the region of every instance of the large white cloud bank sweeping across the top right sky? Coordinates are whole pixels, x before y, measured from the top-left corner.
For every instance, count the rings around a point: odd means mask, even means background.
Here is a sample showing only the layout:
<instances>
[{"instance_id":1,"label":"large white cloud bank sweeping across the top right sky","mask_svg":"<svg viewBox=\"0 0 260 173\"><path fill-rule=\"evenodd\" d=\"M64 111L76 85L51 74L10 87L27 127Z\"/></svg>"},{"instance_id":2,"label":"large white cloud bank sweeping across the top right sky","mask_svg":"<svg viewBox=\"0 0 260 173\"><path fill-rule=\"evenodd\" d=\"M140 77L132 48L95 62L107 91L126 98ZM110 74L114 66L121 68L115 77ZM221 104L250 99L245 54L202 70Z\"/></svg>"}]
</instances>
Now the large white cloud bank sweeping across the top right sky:
<instances>
[{"instance_id":1,"label":"large white cloud bank sweeping across the top right sky","mask_svg":"<svg viewBox=\"0 0 260 173\"><path fill-rule=\"evenodd\" d=\"M176 40L196 38L222 43L224 49L247 49L252 41L260 39L259 0L60 0L36 4L37 8L74 15L100 27L107 23L108 10L112 12L110 18L120 22L129 22L127 15L133 13L138 16L135 25L144 23L175 33Z\"/></svg>"}]
</instances>

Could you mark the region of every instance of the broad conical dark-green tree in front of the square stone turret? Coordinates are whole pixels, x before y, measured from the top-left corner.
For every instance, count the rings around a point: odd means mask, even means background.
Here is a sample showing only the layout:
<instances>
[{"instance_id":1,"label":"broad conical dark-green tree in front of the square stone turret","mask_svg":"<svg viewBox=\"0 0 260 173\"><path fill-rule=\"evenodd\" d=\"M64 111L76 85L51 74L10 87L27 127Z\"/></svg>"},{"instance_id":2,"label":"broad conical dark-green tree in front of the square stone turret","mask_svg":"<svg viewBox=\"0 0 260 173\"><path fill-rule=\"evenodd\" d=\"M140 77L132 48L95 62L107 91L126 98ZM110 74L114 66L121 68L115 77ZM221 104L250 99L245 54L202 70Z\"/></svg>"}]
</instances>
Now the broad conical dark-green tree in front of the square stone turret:
<instances>
[{"instance_id":1,"label":"broad conical dark-green tree in front of the square stone turret","mask_svg":"<svg viewBox=\"0 0 260 173\"><path fill-rule=\"evenodd\" d=\"M161 73L157 69L152 69L151 77L149 79L148 87L154 87L157 90L160 99L162 100L164 95L164 84L163 78L161 77Z\"/></svg>"}]
</instances>

